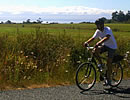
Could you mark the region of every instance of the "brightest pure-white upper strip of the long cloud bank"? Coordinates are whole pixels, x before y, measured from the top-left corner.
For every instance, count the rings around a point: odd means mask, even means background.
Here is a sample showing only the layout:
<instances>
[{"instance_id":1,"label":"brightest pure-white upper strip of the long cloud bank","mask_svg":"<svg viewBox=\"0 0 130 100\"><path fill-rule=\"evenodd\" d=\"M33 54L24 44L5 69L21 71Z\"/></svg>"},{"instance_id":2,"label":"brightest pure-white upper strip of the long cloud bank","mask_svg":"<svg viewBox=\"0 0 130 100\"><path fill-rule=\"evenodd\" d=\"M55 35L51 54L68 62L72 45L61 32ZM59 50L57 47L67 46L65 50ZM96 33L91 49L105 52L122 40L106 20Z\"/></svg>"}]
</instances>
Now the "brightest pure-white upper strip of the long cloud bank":
<instances>
[{"instance_id":1,"label":"brightest pure-white upper strip of the long cloud bank","mask_svg":"<svg viewBox=\"0 0 130 100\"><path fill-rule=\"evenodd\" d=\"M86 6L68 6L68 7L47 7L38 6L0 6L0 13L9 12L12 14L21 14L23 12L49 13L49 14L71 14L71 15L97 15L101 13L111 14L114 10L103 10L98 8L89 8Z\"/></svg>"}]
</instances>

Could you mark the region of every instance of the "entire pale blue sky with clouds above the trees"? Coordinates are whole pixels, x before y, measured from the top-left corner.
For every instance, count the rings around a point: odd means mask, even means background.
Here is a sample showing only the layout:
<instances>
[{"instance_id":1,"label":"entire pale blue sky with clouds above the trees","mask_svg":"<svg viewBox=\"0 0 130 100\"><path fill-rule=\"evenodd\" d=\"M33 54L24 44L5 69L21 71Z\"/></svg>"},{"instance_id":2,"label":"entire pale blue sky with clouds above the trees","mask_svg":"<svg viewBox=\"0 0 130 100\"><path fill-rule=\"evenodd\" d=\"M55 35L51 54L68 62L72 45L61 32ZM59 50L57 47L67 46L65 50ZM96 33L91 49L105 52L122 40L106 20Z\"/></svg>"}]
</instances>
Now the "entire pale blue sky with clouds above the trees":
<instances>
[{"instance_id":1,"label":"entire pale blue sky with clouds above the trees","mask_svg":"<svg viewBox=\"0 0 130 100\"><path fill-rule=\"evenodd\" d=\"M0 21L94 21L130 10L130 0L1 0Z\"/></svg>"}]
</instances>

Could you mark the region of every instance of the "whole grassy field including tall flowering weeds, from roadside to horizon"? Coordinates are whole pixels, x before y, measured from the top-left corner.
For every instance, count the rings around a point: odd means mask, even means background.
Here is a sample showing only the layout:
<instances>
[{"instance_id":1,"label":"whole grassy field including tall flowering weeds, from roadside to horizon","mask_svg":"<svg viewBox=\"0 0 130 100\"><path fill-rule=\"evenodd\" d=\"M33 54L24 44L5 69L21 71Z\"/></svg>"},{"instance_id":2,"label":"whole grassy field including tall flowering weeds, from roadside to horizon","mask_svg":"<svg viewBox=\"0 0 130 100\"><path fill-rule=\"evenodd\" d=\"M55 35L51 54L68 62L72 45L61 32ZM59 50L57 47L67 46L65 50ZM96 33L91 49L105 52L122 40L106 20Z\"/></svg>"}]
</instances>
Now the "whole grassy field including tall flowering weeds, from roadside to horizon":
<instances>
[{"instance_id":1,"label":"whole grassy field including tall flowering weeds, from roadside to horizon","mask_svg":"<svg viewBox=\"0 0 130 100\"><path fill-rule=\"evenodd\" d=\"M113 30L117 52L129 51L130 24L105 26ZM0 88L75 83L75 70L88 57L82 44L95 30L94 24L0 24ZM122 63L129 78L130 66Z\"/></svg>"}]
</instances>

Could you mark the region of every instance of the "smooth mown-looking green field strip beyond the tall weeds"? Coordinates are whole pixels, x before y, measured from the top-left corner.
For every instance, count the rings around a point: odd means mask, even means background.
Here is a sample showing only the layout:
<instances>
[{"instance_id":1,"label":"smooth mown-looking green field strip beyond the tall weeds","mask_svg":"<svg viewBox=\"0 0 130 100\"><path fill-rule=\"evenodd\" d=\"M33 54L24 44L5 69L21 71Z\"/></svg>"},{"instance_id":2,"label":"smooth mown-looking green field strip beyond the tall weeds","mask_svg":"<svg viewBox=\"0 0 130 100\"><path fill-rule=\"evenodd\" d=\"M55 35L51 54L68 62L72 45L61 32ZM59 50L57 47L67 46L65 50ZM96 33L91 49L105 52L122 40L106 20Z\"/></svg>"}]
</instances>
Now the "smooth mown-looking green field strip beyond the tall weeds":
<instances>
[{"instance_id":1,"label":"smooth mown-looking green field strip beyond the tall weeds","mask_svg":"<svg viewBox=\"0 0 130 100\"><path fill-rule=\"evenodd\" d=\"M106 24L106 26L111 27L114 35L117 37L128 37L128 35L130 35L130 24ZM96 29L96 26L94 24L1 24L0 34L35 33L38 27L40 27L41 31L47 31L49 34L59 35L66 33L73 38L77 38L79 35L81 38L92 36Z\"/></svg>"}]
</instances>

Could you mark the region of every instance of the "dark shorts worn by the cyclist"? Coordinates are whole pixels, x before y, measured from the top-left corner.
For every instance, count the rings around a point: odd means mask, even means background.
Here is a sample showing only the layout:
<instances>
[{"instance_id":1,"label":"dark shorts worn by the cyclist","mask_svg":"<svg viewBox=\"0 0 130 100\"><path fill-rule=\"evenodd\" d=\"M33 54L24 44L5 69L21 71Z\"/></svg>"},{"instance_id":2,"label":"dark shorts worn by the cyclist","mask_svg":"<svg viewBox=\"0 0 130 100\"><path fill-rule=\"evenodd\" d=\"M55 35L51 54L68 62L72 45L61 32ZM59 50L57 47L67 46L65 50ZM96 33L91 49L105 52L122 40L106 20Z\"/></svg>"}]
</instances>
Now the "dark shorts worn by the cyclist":
<instances>
[{"instance_id":1,"label":"dark shorts worn by the cyclist","mask_svg":"<svg viewBox=\"0 0 130 100\"><path fill-rule=\"evenodd\" d=\"M100 53L102 54L104 52L108 52L108 57L113 58L114 55L115 55L115 51L116 51L116 49L111 49L111 48L104 45L104 46L101 47Z\"/></svg>"}]
</instances>

